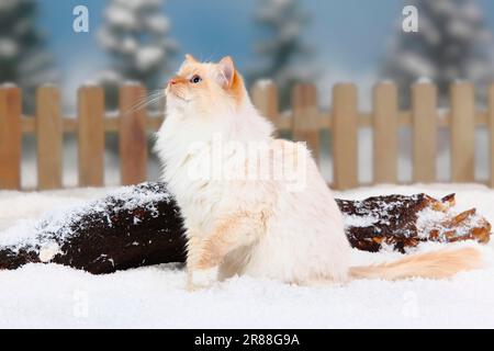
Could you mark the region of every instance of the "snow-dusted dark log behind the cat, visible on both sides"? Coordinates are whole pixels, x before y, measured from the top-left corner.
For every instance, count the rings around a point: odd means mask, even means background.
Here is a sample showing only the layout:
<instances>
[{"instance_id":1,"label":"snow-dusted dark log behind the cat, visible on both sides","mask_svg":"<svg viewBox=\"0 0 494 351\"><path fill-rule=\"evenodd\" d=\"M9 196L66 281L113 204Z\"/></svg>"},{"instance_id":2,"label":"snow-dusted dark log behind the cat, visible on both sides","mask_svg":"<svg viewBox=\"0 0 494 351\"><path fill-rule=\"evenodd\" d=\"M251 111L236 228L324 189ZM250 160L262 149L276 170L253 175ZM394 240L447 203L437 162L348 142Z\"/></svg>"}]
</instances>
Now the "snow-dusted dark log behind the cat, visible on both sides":
<instances>
[{"instance_id":1,"label":"snow-dusted dark log behind the cat, visible on both sides","mask_svg":"<svg viewBox=\"0 0 494 351\"><path fill-rule=\"evenodd\" d=\"M487 242L491 224L475 210L457 214L454 195L388 195L337 200L352 247L405 252L422 241ZM59 263L93 274L158 263L184 262L179 208L164 183L124 186L98 201L42 218L30 233L13 227L0 237L0 269ZM22 231L22 230L21 230Z\"/></svg>"}]
</instances>

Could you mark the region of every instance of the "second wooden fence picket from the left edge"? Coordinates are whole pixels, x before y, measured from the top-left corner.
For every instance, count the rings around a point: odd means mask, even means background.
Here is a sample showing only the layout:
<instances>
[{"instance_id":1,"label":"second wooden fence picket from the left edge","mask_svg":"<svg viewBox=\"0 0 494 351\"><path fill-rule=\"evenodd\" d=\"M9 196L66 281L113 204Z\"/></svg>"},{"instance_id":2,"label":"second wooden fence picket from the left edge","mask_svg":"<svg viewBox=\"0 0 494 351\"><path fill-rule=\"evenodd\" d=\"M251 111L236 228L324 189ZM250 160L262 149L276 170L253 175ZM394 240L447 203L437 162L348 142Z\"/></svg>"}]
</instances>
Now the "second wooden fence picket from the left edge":
<instances>
[{"instance_id":1,"label":"second wooden fence picket from the left edge","mask_svg":"<svg viewBox=\"0 0 494 351\"><path fill-rule=\"evenodd\" d=\"M57 88L36 91L37 188L61 188L61 115Z\"/></svg>"}]
</instances>

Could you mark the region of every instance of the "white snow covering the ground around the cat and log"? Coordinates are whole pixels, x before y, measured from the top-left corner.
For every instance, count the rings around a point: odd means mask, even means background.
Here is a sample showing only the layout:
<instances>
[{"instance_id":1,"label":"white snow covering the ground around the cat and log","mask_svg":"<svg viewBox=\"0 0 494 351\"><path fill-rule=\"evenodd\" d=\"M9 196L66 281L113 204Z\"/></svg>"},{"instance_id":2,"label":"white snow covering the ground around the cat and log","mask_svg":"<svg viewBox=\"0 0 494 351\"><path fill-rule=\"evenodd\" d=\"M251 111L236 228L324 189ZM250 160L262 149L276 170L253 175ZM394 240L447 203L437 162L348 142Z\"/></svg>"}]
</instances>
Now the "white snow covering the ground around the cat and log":
<instances>
[{"instance_id":1,"label":"white snow covering the ground around the cat and log","mask_svg":"<svg viewBox=\"0 0 494 351\"><path fill-rule=\"evenodd\" d=\"M108 189L0 192L0 235L46 211L96 199ZM338 194L457 193L459 210L476 207L494 223L494 191L481 185L374 186ZM419 250L436 249L427 245ZM161 328L494 328L494 246L486 268L448 281L353 281L318 288L237 278L188 293L176 265L94 276L59 265L0 271L0 327ZM353 252L356 264L395 259L394 252Z\"/></svg>"}]
</instances>

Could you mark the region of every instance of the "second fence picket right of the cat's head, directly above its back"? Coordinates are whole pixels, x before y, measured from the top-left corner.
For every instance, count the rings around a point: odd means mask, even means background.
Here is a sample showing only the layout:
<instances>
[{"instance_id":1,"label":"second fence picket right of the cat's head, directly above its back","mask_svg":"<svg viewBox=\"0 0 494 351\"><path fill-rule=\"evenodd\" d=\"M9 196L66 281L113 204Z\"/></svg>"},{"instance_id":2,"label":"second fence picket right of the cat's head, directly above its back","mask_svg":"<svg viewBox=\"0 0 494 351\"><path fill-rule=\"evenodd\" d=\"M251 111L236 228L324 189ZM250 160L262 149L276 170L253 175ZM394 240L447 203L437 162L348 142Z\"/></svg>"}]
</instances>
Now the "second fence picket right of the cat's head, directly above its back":
<instances>
[{"instance_id":1,"label":"second fence picket right of the cat's head, directly above its back","mask_svg":"<svg viewBox=\"0 0 494 351\"><path fill-rule=\"evenodd\" d=\"M299 83L292 91L293 139L306 141L316 162L319 159L319 120L314 84Z\"/></svg>"}]
</instances>

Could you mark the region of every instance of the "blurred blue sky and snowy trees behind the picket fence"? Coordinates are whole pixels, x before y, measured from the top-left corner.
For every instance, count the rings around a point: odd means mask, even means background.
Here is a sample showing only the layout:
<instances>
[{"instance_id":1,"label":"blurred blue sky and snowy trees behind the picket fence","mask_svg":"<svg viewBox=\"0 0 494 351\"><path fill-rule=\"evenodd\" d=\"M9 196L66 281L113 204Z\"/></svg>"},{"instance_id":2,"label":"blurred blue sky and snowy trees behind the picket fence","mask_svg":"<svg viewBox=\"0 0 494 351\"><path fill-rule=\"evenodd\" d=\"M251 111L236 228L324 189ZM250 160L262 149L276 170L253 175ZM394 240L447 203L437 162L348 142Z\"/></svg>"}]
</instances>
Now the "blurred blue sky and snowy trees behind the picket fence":
<instances>
[{"instance_id":1,"label":"blurred blue sky and snowy trees behind the picket fence","mask_svg":"<svg viewBox=\"0 0 494 351\"><path fill-rule=\"evenodd\" d=\"M402 30L408 4L418 9L417 33ZM72 27L78 5L89 11L88 32ZM33 113L35 87L47 82L60 87L66 114L75 114L77 89L89 82L103 84L106 105L115 109L115 87L138 80L150 91L160 89L190 53L203 60L232 55L249 84L276 80L283 109L294 82L314 82L319 104L327 107L333 84L349 81L359 88L360 110L370 111L372 86L388 79L398 84L404 109L417 79L438 84L440 105L450 82L471 80L482 106L494 77L493 32L490 0L0 0L0 82L23 88L27 114ZM160 101L154 105L159 107ZM359 177L366 181L371 148L366 147L366 131L359 136L364 140ZM406 132L400 143L409 152ZM489 172L482 162L486 135L481 132L476 143L475 171L482 179ZM69 145L67 155L76 152ZM439 141L442 149L439 179L447 177L440 170L449 169L447 148ZM29 184L35 171L25 157L23 184ZM72 157L66 158L70 162ZM111 169L111 156L105 162ZM400 179L406 181L408 160L400 162ZM330 177L330 160L325 172ZM157 173L155 167L150 178ZM68 184L77 182L67 177ZM111 183L112 171L106 178Z\"/></svg>"}]
</instances>

